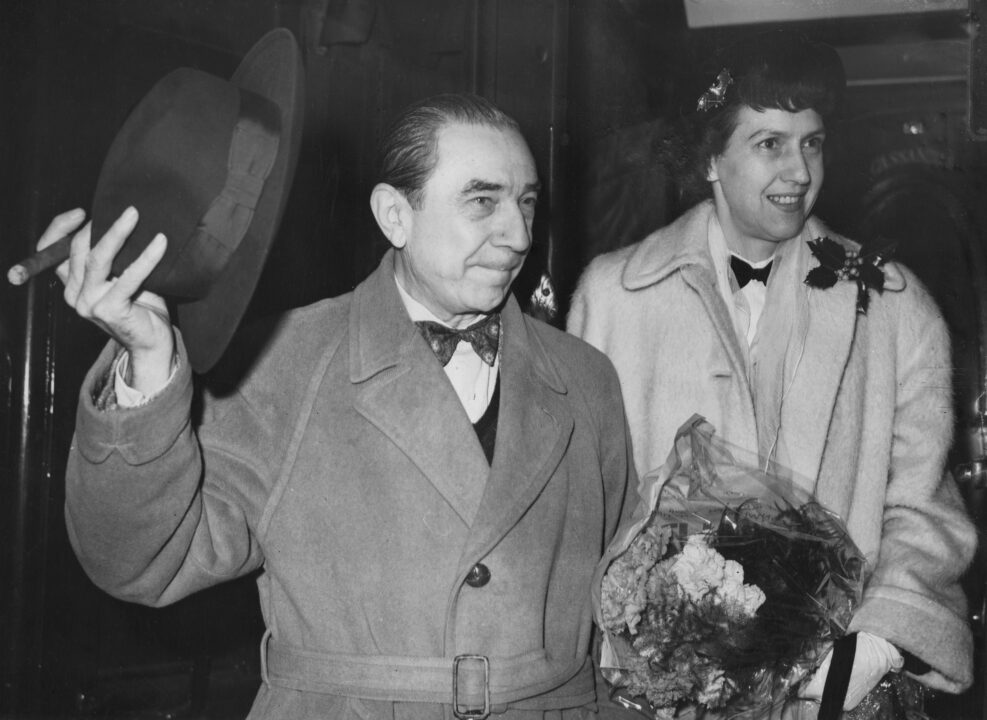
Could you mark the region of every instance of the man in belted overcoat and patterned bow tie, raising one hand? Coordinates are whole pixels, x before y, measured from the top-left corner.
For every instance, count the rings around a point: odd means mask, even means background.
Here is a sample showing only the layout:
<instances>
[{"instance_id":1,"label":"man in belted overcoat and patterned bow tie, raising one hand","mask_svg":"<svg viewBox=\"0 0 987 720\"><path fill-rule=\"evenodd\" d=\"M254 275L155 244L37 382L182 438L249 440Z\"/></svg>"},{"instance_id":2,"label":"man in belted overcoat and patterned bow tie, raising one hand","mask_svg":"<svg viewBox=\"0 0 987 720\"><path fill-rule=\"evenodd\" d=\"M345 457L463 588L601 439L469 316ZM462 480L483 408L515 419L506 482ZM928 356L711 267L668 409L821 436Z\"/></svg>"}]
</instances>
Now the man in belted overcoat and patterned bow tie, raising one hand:
<instances>
[{"instance_id":1,"label":"man in belted overcoat and patterned bow tie, raising one hand","mask_svg":"<svg viewBox=\"0 0 987 720\"><path fill-rule=\"evenodd\" d=\"M262 568L251 718L587 716L590 578L633 473L616 375L509 294L539 189L514 120L438 96L381 158L393 249L283 318L195 422L182 336L137 295L166 241L111 278L136 212L92 249L76 236L67 301L113 342L81 393L74 547L150 605Z\"/></svg>"}]
</instances>

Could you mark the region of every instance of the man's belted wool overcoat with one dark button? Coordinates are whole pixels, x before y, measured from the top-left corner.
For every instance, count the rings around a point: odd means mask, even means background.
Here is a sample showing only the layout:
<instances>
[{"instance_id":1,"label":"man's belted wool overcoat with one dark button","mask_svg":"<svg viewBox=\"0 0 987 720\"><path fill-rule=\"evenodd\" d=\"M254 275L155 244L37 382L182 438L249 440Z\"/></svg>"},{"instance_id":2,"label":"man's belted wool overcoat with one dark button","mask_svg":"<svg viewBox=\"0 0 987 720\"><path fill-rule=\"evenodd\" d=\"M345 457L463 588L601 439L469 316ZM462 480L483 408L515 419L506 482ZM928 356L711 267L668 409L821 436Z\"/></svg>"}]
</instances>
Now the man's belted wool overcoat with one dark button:
<instances>
[{"instance_id":1,"label":"man's belted wool overcoat with one dark button","mask_svg":"<svg viewBox=\"0 0 987 720\"><path fill-rule=\"evenodd\" d=\"M114 352L82 391L72 542L99 586L151 605L262 568L251 718L448 717L464 654L489 658L502 717L593 706L589 582L633 472L602 354L509 299L490 465L393 251L354 292L289 313L201 422L184 357L147 405L100 410ZM464 662L477 682L482 661Z\"/></svg>"}]
</instances>

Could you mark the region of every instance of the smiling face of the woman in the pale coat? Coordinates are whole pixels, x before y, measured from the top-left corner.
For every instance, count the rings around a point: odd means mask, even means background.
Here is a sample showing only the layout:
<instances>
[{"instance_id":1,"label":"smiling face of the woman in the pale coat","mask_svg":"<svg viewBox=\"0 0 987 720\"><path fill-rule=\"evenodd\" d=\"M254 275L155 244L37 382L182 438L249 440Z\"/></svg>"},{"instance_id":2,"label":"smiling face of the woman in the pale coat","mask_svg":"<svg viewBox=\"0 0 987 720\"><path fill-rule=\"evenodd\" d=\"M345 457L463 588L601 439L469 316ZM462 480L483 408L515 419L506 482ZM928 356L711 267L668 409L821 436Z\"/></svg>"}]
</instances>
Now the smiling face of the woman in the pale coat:
<instances>
[{"instance_id":1,"label":"smiling face of the woman in the pale coat","mask_svg":"<svg viewBox=\"0 0 987 720\"><path fill-rule=\"evenodd\" d=\"M731 250L764 260L802 231L822 187L825 137L815 110L740 109L707 175Z\"/></svg>"}]
</instances>

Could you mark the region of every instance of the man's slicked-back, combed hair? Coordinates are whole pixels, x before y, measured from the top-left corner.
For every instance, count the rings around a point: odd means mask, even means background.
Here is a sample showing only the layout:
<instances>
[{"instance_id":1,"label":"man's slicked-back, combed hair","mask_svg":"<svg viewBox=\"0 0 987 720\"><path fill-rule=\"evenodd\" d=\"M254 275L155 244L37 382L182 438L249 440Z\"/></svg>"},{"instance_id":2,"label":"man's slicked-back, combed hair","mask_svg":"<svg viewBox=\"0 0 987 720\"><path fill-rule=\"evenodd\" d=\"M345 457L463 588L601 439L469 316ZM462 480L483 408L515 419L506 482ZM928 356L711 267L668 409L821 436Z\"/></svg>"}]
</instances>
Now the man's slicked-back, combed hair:
<instances>
[{"instance_id":1,"label":"man's slicked-back, combed hair","mask_svg":"<svg viewBox=\"0 0 987 720\"><path fill-rule=\"evenodd\" d=\"M384 132L377 154L377 182L421 207L425 183L438 163L438 134L446 125L486 125L521 132L517 121L479 95L435 95L406 108Z\"/></svg>"}]
</instances>

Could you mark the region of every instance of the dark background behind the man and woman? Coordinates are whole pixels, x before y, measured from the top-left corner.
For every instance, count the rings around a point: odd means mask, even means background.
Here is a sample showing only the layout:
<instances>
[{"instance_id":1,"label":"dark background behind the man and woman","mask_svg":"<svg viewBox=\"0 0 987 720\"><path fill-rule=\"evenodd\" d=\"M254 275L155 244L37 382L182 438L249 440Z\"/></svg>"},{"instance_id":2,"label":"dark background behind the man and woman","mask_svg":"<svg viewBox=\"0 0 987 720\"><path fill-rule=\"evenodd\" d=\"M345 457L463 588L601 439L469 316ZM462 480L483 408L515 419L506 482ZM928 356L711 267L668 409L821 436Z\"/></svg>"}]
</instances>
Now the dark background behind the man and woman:
<instances>
[{"instance_id":1,"label":"dark background behind the man and woman","mask_svg":"<svg viewBox=\"0 0 987 720\"><path fill-rule=\"evenodd\" d=\"M585 264L683 208L657 160L716 48L777 23L837 47L849 79L818 214L897 243L954 342L951 465L984 528L987 467L987 0L3 0L0 267L48 219L88 207L131 107L168 71L228 77L285 26L307 68L294 190L250 318L350 290L386 243L369 213L382 125L425 95L473 91L521 123L546 188L516 293L560 314ZM698 91L696 90L698 88ZM827 148L830 144L827 144ZM238 718L259 683L253 578L150 610L79 569L62 521L82 377L104 340L53 275L0 286L0 715ZM967 578L975 686L933 716L984 718L984 560Z\"/></svg>"}]
</instances>

